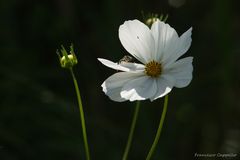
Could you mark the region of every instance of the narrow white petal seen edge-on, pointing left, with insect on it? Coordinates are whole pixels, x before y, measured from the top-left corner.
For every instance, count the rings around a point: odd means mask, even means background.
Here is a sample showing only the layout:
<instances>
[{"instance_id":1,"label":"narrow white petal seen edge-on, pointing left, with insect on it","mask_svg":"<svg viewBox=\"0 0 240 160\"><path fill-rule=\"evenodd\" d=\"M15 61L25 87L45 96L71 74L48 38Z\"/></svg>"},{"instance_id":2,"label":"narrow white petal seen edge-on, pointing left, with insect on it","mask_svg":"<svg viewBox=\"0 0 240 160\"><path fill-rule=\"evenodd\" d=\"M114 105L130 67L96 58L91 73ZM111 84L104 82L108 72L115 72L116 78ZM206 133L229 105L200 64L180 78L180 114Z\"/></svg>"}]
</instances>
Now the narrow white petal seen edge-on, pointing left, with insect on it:
<instances>
[{"instance_id":1,"label":"narrow white petal seen edge-on, pointing left, with insect on it","mask_svg":"<svg viewBox=\"0 0 240 160\"><path fill-rule=\"evenodd\" d=\"M144 71L144 65L142 64L137 64L137 63L125 63L122 62L120 64L118 63L114 63L112 61L109 61L107 59L103 59L103 58L98 58L98 60L104 64L105 66L115 69L115 70L119 70L119 71Z\"/></svg>"}]
</instances>

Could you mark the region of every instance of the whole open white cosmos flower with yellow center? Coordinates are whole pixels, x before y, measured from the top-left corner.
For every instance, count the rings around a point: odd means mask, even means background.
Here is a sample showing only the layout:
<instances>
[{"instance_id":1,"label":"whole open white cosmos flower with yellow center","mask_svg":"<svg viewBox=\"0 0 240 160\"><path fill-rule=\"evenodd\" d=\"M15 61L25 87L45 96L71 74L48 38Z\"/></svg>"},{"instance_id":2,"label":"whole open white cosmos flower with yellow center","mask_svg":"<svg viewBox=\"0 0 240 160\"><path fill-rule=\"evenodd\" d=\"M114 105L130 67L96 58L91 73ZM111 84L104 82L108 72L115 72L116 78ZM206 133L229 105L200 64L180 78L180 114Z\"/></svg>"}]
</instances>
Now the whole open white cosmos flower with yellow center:
<instances>
[{"instance_id":1,"label":"whole open white cosmos flower with yellow center","mask_svg":"<svg viewBox=\"0 0 240 160\"><path fill-rule=\"evenodd\" d=\"M138 20L125 21L119 27L120 41L142 64L98 58L105 66L121 71L103 82L103 92L118 102L153 101L173 87L186 87L192 80L193 57L178 58L189 49L191 34L192 28L179 37L175 29L159 20L151 28Z\"/></svg>"}]
</instances>

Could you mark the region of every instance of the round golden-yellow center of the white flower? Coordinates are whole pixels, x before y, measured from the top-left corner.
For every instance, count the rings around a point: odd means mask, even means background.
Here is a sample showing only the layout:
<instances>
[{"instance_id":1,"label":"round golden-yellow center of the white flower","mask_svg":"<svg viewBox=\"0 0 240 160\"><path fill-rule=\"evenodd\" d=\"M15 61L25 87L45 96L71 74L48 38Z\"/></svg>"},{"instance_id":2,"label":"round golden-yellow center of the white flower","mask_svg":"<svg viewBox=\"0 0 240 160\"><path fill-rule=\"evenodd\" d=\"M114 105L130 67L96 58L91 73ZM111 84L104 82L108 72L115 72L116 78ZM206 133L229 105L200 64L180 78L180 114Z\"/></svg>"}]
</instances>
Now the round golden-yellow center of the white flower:
<instances>
[{"instance_id":1,"label":"round golden-yellow center of the white flower","mask_svg":"<svg viewBox=\"0 0 240 160\"><path fill-rule=\"evenodd\" d=\"M156 61L145 64L145 73L153 78L158 77L162 73L162 65Z\"/></svg>"}]
</instances>

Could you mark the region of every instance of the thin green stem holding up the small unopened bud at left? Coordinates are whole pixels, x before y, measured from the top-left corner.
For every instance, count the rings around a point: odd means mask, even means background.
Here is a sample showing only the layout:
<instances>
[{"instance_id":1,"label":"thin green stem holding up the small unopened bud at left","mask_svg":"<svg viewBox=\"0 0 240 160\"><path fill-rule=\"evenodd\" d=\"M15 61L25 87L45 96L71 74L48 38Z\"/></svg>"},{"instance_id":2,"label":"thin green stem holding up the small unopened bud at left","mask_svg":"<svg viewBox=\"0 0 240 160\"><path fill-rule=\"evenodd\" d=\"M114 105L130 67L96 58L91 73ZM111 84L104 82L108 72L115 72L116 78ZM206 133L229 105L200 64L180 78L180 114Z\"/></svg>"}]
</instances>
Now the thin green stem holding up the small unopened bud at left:
<instances>
[{"instance_id":1,"label":"thin green stem holding up the small unopened bud at left","mask_svg":"<svg viewBox=\"0 0 240 160\"><path fill-rule=\"evenodd\" d=\"M88 141L87 141L87 131L86 131L86 126L85 126L85 118L84 118L84 112L83 112L83 105L82 105L80 90L79 90L77 79L74 75L73 69L70 68L70 71L71 71L71 75L72 75L72 78L73 78L73 83L74 83L76 94L77 94L77 100L78 100L79 113L80 113L80 119L81 119L81 124L82 124L82 133L83 133L83 141L84 141L84 147L85 147L85 152L86 152L86 158L87 158L87 160L90 160L90 153L89 153L89 147L88 147Z\"/></svg>"}]
</instances>

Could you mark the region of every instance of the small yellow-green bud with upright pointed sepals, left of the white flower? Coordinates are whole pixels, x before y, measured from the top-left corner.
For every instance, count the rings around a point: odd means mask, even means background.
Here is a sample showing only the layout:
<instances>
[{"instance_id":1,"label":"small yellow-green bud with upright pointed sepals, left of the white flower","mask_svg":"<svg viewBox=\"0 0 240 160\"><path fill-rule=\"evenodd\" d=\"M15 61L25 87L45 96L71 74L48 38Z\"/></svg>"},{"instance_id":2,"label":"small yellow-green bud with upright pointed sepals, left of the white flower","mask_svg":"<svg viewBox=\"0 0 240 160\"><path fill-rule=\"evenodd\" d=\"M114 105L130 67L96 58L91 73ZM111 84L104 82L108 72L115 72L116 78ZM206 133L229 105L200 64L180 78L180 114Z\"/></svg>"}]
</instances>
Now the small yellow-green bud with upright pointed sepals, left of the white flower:
<instances>
[{"instance_id":1,"label":"small yellow-green bud with upright pointed sepals, left of the white flower","mask_svg":"<svg viewBox=\"0 0 240 160\"><path fill-rule=\"evenodd\" d=\"M59 62L62 68L70 69L78 63L77 57L73 50L73 45L70 46L70 54L67 53L64 46L62 46L60 52L61 54L57 50Z\"/></svg>"}]
</instances>

